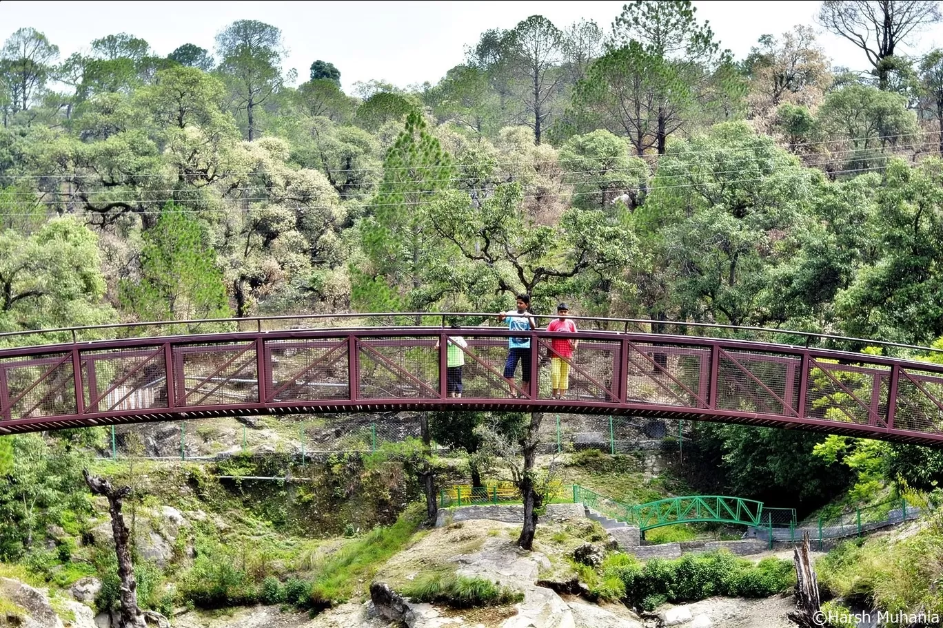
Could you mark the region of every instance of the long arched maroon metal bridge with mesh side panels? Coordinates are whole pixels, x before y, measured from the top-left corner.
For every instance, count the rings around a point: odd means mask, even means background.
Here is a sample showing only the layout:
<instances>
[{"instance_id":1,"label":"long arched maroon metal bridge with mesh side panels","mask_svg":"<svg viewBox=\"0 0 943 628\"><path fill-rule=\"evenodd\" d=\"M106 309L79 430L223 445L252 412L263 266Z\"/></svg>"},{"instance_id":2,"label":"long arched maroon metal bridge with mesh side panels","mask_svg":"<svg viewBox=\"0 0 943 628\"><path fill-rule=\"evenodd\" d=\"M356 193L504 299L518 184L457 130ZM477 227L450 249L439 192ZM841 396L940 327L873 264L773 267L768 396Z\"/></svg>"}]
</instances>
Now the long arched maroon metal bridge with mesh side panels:
<instances>
[{"instance_id":1,"label":"long arched maroon metal bridge with mesh side panels","mask_svg":"<svg viewBox=\"0 0 943 628\"><path fill-rule=\"evenodd\" d=\"M444 321L451 314L424 315ZM573 336L527 332L530 380L521 383L519 369L512 389L503 378L511 334L494 322L455 331L371 327L357 316L322 321L348 327L266 330L263 319L252 319L250 330L93 341L81 339L92 328L76 328L83 333L65 330L71 342L0 349L0 434L211 416L461 409L630 414L943 445L943 366L930 362L653 334L621 319L586 319L580 326L593 329L577 334L570 388L556 400L547 352L554 338ZM93 330L128 335L123 326ZM447 394L446 353L436 348L456 333L468 341L461 398Z\"/></svg>"}]
</instances>

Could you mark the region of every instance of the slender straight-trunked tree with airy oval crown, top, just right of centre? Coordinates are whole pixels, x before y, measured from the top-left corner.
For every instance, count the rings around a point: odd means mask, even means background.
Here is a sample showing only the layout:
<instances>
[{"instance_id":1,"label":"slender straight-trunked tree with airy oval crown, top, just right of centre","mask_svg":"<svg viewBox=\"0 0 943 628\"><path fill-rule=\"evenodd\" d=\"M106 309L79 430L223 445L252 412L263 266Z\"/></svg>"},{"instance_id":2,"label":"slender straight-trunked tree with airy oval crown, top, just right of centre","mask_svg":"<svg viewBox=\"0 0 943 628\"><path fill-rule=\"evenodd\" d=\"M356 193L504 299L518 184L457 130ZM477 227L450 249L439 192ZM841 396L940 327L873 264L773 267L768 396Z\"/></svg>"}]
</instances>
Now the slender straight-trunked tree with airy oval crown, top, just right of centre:
<instances>
[{"instance_id":1,"label":"slender straight-trunked tree with airy oval crown, top, just right of centre","mask_svg":"<svg viewBox=\"0 0 943 628\"><path fill-rule=\"evenodd\" d=\"M505 55L512 76L521 89L522 120L534 129L534 143L552 114L554 97L562 80L563 32L542 15L532 15L508 33Z\"/></svg>"}]
</instances>

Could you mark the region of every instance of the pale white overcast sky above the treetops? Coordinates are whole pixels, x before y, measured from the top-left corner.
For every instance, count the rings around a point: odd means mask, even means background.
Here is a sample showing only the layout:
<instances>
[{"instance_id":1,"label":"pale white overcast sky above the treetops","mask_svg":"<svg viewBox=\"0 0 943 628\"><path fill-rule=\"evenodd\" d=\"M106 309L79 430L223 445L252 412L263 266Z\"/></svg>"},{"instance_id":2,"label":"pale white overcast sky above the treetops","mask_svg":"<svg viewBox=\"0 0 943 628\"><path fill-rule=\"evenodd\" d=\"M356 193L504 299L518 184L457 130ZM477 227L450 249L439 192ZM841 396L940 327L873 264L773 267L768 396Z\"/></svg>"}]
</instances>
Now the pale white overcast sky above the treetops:
<instances>
[{"instance_id":1,"label":"pale white overcast sky above the treetops","mask_svg":"<svg viewBox=\"0 0 943 628\"><path fill-rule=\"evenodd\" d=\"M695 0L697 17L710 22L736 58L765 33L780 35L795 24L814 24L818 1ZM214 38L236 20L260 20L282 30L289 49L286 70L301 81L315 59L334 63L342 87L380 79L401 88L438 82L461 63L465 46L488 28L512 28L540 14L560 28L580 18L608 31L623 2L41 2L0 1L0 41L32 26L58 45L62 58L88 51L91 40L129 33L147 40L159 56L183 43L212 51ZM867 59L850 41L822 33L819 42L833 64L866 70ZM943 24L919 35L914 52L943 45Z\"/></svg>"}]
</instances>

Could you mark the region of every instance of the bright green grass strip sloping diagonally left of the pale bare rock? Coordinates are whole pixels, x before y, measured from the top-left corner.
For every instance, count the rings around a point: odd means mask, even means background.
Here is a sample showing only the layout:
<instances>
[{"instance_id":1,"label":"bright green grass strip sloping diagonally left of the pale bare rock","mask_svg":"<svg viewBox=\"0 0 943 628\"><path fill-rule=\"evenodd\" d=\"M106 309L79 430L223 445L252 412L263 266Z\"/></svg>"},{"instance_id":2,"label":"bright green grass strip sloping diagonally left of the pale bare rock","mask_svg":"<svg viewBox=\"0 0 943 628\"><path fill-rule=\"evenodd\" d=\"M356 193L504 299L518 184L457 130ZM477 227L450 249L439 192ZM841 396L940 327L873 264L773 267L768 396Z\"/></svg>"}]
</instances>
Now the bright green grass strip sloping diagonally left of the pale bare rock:
<instances>
[{"instance_id":1,"label":"bright green grass strip sloping diagonally left of the pale bare rock","mask_svg":"<svg viewBox=\"0 0 943 628\"><path fill-rule=\"evenodd\" d=\"M318 576L311 588L311 604L324 608L346 602L358 585L369 582L378 567L405 547L424 518L424 507L414 504L396 523L374 528L316 560L313 571Z\"/></svg>"}]
</instances>

